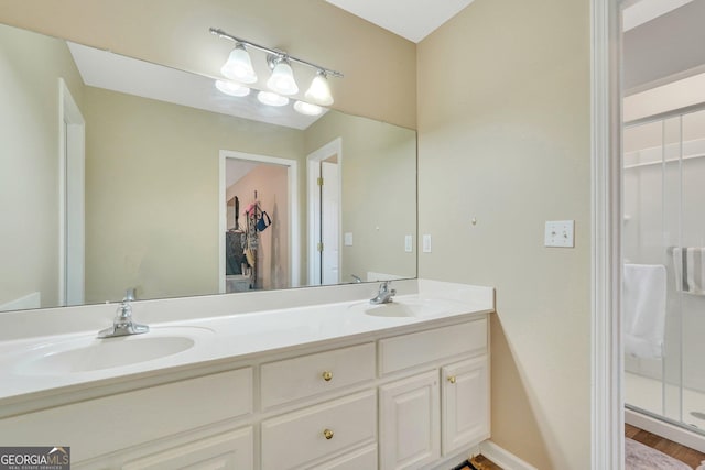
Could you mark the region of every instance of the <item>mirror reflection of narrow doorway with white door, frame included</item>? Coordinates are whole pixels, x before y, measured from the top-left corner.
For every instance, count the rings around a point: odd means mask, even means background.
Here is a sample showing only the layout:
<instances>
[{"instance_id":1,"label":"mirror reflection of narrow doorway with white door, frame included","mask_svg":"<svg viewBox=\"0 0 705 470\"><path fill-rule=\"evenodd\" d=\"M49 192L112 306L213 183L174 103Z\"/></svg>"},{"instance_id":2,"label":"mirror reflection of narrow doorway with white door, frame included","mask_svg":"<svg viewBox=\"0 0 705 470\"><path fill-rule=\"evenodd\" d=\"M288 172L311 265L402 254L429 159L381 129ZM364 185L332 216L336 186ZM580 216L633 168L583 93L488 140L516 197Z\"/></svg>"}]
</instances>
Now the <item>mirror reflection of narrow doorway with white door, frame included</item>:
<instances>
[{"instance_id":1,"label":"mirror reflection of narrow doorway with white door, frame included","mask_svg":"<svg viewBox=\"0 0 705 470\"><path fill-rule=\"evenodd\" d=\"M340 282L340 139L307 157L308 283Z\"/></svg>"}]
</instances>

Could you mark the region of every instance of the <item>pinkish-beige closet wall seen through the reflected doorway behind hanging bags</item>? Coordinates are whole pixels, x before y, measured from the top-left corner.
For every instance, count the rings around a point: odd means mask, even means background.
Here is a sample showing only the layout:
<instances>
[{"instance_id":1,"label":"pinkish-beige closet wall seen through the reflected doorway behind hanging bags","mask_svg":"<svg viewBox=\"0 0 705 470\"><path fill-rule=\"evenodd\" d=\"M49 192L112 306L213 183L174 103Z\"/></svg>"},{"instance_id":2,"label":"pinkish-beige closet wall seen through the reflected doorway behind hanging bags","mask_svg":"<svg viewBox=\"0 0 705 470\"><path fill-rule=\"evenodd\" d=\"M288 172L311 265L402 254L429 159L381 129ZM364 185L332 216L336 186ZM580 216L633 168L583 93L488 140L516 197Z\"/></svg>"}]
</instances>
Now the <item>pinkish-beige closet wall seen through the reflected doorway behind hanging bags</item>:
<instances>
[{"instance_id":1,"label":"pinkish-beige closet wall seen through the reflected doorway behind hanging bags","mask_svg":"<svg viewBox=\"0 0 705 470\"><path fill-rule=\"evenodd\" d=\"M254 199L257 192L257 199ZM245 177L232 184L226 200L237 196L240 200L240 228L247 231L245 211L258 200L272 225L258 232L257 288L272 289L291 287L289 274L289 172L285 166L258 165Z\"/></svg>"}]
</instances>

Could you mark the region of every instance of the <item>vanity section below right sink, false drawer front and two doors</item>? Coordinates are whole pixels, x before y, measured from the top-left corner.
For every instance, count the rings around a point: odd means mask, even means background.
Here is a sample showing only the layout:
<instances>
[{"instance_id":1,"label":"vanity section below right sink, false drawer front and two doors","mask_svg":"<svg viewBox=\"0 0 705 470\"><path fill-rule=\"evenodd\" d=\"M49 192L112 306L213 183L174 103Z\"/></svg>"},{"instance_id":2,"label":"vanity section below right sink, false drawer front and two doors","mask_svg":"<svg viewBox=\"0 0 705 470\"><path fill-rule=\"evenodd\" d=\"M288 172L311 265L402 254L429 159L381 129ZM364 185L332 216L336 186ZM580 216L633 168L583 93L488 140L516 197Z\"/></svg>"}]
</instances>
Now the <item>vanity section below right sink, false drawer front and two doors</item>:
<instances>
[{"instance_id":1,"label":"vanity section below right sink, false drawer front and two doors","mask_svg":"<svg viewBox=\"0 0 705 470\"><path fill-rule=\"evenodd\" d=\"M417 469L489 437L487 319L379 341L380 467Z\"/></svg>"}]
</instances>

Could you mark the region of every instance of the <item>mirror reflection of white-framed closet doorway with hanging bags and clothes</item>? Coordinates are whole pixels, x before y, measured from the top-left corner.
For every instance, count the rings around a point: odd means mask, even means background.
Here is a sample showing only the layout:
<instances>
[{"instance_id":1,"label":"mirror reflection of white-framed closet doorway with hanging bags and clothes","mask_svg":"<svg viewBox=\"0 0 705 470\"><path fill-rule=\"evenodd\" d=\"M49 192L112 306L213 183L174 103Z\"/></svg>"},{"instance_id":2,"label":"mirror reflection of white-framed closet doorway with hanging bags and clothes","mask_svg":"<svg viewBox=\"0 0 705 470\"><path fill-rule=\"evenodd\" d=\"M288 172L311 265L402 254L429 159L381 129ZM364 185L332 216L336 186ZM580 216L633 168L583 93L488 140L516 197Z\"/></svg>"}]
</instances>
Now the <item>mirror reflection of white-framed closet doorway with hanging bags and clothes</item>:
<instances>
[{"instance_id":1,"label":"mirror reflection of white-framed closet doorway with hanging bags and clothes","mask_svg":"<svg viewBox=\"0 0 705 470\"><path fill-rule=\"evenodd\" d=\"M220 292L295 286L296 162L220 152Z\"/></svg>"}]
</instances>

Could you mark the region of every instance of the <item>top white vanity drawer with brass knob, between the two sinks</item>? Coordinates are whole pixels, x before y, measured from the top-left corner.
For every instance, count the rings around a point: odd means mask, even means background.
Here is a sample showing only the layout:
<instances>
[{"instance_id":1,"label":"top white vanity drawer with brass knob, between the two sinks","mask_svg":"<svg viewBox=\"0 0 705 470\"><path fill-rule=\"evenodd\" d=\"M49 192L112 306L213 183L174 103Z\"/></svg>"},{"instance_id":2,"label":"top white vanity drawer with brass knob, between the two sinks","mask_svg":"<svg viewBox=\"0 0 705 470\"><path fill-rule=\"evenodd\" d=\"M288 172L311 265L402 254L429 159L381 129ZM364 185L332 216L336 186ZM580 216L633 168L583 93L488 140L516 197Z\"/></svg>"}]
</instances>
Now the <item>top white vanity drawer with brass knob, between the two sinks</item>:
<instances>
[{"instance_id":1,"label":"top white vanity drawer with brass knob, between the two sinks","mask_svg":"<svg viewBox=\"0 0 705 470\"><path fill-rule=\"evenodd\" d=\"M263 364L262 407L375 379L375 343Z\"/></svg>"}]
</instances>

